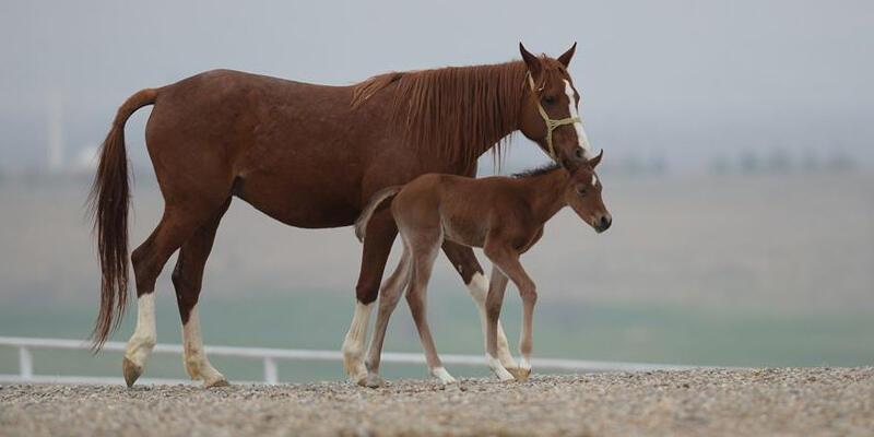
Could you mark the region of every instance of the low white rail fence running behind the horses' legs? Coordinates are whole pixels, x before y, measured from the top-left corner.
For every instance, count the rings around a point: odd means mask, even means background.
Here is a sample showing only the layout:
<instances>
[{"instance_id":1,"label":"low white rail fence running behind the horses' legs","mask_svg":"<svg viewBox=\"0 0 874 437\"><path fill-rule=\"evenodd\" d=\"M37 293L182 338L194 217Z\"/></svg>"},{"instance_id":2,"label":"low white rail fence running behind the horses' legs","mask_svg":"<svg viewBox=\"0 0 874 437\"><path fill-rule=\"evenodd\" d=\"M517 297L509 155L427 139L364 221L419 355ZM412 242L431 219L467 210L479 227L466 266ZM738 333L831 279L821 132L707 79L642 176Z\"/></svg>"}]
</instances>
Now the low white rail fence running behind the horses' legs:
<instances>
[{"instance_id":1,"label":"low white rail fence running behind the horses' legs","mask_svg":"<svg viewBox=\"0 0 874 437\"><path fill-rule=\"evenodd\" d=\"M122 342L107 342L105 351L125 351L126 344ZM61 339L31 339L21 336L0 336L0 347L14 347L19 350L19 374L2 375L0 382L12 383L123 383L121 378L111 377L85 377L68 375L37 375L34 373L34 358L31 351L34 350L67 350L67 351L87 351L90 345L81 340ZM233 346L205 346L210 356L229 356L238 358L250 358L261 361L264 369L263 381L251 381L249 383L277 383L279 361L304 361L304 362L342 362L343 354L340 351L311 351L296 349L268 349L268 347L233 347ZM179 344L157 344L153 350L156 354L182 354L182 346ZM461 366L486 366L485 357L477 355L440 355L445 364ZM404 364L425 364L425 356L422 354L386 352L382 354L383 363L404 363ZM570 370L570 371L648 371L648 370L684 370L696 368L697 366L681 366L665 364L643 364L643 363L614 363L614 362L593 362L580 359L560 358L534 358L532 365L538 370ZM187 383L190 381L175 379L149 379L144 378L140 383Z\"/></svg>"}]
</instances>

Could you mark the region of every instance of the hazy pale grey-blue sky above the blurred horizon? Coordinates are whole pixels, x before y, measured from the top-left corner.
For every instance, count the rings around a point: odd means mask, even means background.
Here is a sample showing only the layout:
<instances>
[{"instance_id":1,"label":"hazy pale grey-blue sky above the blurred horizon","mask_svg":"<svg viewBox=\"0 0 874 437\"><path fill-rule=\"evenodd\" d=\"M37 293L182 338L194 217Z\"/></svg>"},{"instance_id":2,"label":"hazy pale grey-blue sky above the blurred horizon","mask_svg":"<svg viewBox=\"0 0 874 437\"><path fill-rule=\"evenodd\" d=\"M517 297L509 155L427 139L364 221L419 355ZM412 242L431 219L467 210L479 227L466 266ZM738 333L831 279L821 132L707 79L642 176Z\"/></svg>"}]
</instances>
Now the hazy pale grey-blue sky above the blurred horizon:
<instances>
[{"instance_id":1,"label":"hazy pale grey-blue sky above the blurred horizon","mask_svg":"<svg viewBox=\"0 0 874 437\"><path fill-rule=\"evenodd\" d=\"M0 166L46 161L50 102L74 150L130 94L212 68L346 84L388 70L500 62L522 40L571 64L595 147L664 154L840 150L874 162L866 1L0 2ZM142 160L142 122L129 150ZM518 141L516 162L542 161Z\"/></svg>"}]
</instances>

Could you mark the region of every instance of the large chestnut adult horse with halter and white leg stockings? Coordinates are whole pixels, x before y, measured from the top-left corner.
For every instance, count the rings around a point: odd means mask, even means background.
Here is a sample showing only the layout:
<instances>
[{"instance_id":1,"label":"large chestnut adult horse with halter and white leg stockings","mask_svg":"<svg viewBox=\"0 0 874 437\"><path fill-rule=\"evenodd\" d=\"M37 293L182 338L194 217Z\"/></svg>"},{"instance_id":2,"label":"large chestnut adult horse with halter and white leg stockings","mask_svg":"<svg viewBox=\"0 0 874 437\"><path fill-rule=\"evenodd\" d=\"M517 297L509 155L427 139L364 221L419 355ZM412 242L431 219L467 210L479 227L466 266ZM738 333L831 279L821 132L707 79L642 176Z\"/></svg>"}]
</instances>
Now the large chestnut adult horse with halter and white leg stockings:
<instances>
[{"instance_id":1,"label":"large chestnut adult horse with halter and white leg stockings","mask_svg":"<svg viewBox=\"0 0 874 437\"><path fill-rule=\"evenodd\" d=\"M95 349L118 327L127 304L125 123L133 111L154 105L145 140L165 206L131 253L138 320L125 379L133 385L155 344L155 279L179 250L173 284L186 370L206 387L226 385L203 352L197 303L233 197L291 226L347 226L385 187L426 173L473 176L477 157L517 130L566 168L593 155L575 118L579 97L566 70L576 45L557 59L519 48L522 61L392 72L352 86L210 71L128 98L103 143L92 193L103 271ZM382 211L370 220L364 243L355 315L343 343L346 371L359 383L367 377L367 321L397 233ZM482 308L488 284L473 251L450 241L442 250ZM501 364L513 368L504 343Z\"/></svg>"}]
</instances>

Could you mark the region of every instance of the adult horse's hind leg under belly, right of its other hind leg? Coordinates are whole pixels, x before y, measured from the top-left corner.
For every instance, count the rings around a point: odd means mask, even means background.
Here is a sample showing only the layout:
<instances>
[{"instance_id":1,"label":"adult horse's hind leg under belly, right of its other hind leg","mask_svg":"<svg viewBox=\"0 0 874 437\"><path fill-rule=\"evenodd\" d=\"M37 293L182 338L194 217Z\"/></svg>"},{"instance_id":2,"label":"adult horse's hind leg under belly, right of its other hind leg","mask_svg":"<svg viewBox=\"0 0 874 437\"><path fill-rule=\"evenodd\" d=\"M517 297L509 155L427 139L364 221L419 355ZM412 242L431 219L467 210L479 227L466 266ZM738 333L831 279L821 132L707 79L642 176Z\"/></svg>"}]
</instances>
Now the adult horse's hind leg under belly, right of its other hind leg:
<instances>
[{"instance_id":1,"label":"adult horse's hind leg under belly, right of its other hind leg","mask_svg":"<svg viewBox=\"0 0 874 437\"><path fill-rule=\"evenodd\" d=\"M179 249L179 259L173 270L176 303L182 319L182 352L185 368L191 379L203 380L204 387L227 386L227 379L216 370L203 352L203 338L198 317L198 297L203 281L203 267L215 240L215 231L231 205L231 198L218 212L194 231Z\"/></svg>"}]
</instances>

